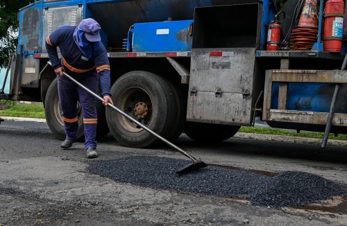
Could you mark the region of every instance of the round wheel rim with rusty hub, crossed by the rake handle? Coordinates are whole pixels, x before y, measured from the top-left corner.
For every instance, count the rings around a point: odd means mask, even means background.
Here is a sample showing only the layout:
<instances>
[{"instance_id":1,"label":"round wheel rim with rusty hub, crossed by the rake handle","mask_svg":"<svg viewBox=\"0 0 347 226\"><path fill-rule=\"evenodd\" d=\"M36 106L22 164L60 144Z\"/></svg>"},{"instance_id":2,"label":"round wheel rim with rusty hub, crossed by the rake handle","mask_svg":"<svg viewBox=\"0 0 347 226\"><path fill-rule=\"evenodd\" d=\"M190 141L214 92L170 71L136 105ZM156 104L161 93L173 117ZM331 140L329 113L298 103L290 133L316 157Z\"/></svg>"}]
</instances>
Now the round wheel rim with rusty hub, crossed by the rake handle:
<instances>
[{"instance_id":1,"label":"round wheel rim with rusty hub, crossed by the rake handle","mask_svg":"<svg viewBox=\"0 0 347 226\"><path fill-rule=\"evenodd\" d=\"M149 94L140 87L130 87L119 96L117 106L129 116L137 119L143 125L151 123L153 115L153 103ZM117 114L121 127L128 132L141 132L143 129L126 119L121 114Z\"/></svg>"}]
</instances>

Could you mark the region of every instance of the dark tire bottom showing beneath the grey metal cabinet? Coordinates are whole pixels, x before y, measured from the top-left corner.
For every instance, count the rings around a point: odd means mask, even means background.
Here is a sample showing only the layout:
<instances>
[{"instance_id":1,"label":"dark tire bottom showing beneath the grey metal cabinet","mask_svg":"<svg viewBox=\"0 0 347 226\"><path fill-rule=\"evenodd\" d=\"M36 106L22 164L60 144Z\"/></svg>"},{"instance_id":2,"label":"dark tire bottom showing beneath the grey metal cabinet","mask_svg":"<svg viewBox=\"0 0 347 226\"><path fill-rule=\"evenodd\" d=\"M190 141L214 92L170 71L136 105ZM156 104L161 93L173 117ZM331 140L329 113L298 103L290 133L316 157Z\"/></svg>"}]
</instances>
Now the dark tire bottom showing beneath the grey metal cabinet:
<instances>
[{"instance_id":1,"label":"dark tire bottom showing beneath the grey metal cabinet","mask_svg":"<svg viewBox=\"0 0 347 226\"><path fill-rule=\"evenodd\" d=\"M186 122L185 134L195 141L217 142L233 137L239 126Z\"/></svg>"}]
</instances>

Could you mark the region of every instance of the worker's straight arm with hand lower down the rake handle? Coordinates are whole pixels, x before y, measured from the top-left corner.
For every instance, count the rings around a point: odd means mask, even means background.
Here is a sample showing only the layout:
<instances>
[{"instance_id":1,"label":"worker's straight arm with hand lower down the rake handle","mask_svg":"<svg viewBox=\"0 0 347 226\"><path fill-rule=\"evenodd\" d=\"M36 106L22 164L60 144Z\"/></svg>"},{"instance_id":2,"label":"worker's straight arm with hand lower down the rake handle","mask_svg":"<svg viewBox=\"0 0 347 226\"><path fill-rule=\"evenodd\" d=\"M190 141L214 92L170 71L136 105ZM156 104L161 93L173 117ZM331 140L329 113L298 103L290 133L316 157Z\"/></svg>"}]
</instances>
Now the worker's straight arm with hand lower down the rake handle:
<instances>
[{"instance_id":1,"label":"worker's straight arm with hand lower down the rake handle","mask_svg":"<svg viewBox=\"0 0 347 226\"><path fill-rule=\"evenodd\" d=\"M110 62L108 60L108 53L105 49L105 46L100 42L98 54L96 55L95 59L95 67L96 72L99 76L100 86L101 86L101 94L103 95L103 99L105 100L105 105L108 104L108 102L112 103L111 96L111 69L110 69Z\"/></svg>"}]
</instances>

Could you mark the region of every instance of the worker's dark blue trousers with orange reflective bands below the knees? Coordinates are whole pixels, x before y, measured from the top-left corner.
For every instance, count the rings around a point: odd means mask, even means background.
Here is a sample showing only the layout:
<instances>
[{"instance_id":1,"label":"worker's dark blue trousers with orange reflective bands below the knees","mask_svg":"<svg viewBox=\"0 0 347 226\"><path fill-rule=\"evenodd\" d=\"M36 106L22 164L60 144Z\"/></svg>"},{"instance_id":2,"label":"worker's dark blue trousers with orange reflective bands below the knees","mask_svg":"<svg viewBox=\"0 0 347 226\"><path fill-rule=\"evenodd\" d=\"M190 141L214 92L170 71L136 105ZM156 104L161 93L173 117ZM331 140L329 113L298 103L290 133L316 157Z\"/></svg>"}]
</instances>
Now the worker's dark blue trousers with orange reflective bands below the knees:
<instances>
[{"instance_id":1,"label":"worker's dark blue trousers with orange reflective bands below the knees","mask_svg":"<svg viewBox=\"0 0 347 226\"><path fill-rule=\"evenodd\" d=\"M78 82L96 93L99 78L96 76L74 76ZM58 76L58 93L62 120L65 123L66 139L76 139L78 134L77 102L81 103L85 132L85 148L96 148L96 98L65 76Z\"/></svg>"}]
</instances>

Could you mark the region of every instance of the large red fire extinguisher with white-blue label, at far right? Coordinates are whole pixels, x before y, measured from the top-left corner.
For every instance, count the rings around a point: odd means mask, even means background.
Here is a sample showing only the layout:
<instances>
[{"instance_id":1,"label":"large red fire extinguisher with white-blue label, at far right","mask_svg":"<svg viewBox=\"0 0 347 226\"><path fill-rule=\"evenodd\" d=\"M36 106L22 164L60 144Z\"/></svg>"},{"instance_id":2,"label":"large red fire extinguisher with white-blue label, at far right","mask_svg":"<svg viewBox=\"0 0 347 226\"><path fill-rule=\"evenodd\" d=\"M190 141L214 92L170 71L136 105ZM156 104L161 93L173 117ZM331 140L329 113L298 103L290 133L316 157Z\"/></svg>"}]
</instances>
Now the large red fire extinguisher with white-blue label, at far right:
<instances>
[{"instance_id":1,"label":"large red fire extinguisher with white-blue label, at far right","mask_svg":"<svg viewBox=\"0 0 347 226\"><path fill-rule=\"evenodd\" d=\"M344 0L328 0L324 15L324 51L341 53L344 36Z\"/></svg>"}]
</instances>

